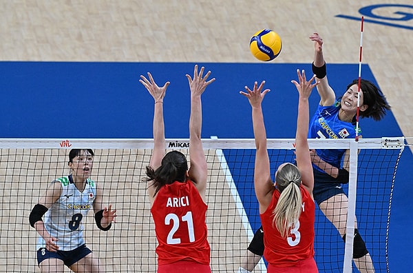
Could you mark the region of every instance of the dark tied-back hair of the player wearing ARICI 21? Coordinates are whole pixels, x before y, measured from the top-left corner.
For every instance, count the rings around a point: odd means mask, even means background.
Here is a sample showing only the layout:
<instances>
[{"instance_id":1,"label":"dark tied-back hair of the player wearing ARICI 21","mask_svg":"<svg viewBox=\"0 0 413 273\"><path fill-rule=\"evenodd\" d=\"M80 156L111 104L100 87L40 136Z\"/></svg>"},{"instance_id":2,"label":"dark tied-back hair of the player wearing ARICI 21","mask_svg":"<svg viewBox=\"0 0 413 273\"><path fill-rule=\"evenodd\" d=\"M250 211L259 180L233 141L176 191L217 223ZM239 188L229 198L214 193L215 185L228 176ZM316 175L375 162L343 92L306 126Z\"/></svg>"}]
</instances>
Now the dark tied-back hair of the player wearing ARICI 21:
<instances>
[{"instance_id":1,"label":"dark tied-back hair of the player wearing ARICI 21","mask_svg":"<svg viewBox=\"0 0 413 273\"><path fill-rule=\"evenodd\" d=\"M146 168L147 178L144 181L153 181L156 188L155 194L164 185L169 185L175 181L184 182L187 180L188 161L182 152L171 151L165 154L159 168L153 170L150 166ZM153 194L153 196L155 196Z\"/></svg>"}]
</instances>

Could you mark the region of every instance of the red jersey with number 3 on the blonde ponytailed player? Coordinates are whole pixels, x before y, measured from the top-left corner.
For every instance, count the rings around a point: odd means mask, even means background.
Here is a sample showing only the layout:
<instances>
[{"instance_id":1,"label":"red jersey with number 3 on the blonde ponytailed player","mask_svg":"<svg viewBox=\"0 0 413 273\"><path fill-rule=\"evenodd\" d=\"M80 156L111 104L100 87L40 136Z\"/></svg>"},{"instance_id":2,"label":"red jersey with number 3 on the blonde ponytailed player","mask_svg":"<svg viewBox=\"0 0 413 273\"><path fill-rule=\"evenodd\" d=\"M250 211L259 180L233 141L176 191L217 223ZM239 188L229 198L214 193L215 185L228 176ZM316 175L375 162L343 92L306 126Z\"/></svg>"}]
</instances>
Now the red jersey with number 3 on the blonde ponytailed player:
<instances>
[{"instance_id":1,"label":"red jersey with number 3 on the blonde ponytailed player","mask_svg":"<svg viewBox=\"0 0 413 273\"><path fill-rule=\"evenodd\" d=\"M273 211L280 196L278 190L274 190L267 210L260 214L264 230L264 257L275 267L294 266L299 261L314 257L315 203L302 185L300 191L303 202L301 215L295 227L288 231L286 239L273 224Z\"/></svg>"}]
</instances>

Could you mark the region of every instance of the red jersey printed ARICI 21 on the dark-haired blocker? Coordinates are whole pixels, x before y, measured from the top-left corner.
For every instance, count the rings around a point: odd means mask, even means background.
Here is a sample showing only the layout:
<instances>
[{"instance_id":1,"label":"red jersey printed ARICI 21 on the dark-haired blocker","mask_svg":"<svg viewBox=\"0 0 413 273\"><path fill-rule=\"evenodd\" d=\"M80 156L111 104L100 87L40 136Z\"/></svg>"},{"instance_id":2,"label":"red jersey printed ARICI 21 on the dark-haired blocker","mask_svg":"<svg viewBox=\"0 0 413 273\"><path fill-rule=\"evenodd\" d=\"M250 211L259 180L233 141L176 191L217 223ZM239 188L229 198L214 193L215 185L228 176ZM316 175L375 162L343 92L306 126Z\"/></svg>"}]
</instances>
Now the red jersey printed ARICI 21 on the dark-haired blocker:
<instances>
[{"instance_id":1,"label":"red jersey printed ARICI 21 on the dark-haired blocker","mask_svg":"<svg viewBox=\"0 0 413 273\"><path fill-rule=\"evenodd\" d=\"M207 208L190 180L160 188L151 208L158 239L158 265L183 260L209 265Z\"/></svg>"}]
</instances>

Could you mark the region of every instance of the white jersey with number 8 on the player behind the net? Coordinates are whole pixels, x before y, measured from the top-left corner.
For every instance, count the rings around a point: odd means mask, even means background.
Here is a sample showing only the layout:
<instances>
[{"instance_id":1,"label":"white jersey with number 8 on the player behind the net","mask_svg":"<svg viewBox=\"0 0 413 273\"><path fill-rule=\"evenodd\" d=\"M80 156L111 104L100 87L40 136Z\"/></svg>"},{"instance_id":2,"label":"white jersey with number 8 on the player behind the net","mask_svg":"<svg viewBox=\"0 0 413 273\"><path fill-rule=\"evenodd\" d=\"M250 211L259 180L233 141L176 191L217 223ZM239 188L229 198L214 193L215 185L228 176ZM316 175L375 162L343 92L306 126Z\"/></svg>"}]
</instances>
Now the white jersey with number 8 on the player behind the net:
<instances>
[{"instance_id":1,"label":"white jersey with number 8 on the player behind the net","mask_svg":"<svg viewBox=\"0 0 413 273\"><path fill-rule=\"evenodd\" d=\"M93 209L96 184L87 179L85 190L80 192L71 175L56 179L54 183L61 183L62 193L43 216L43 223L47 232L58 239L59 250L74 250L85 244L82 219ZM45 247L45 240L39 236L37 249L41 247Z\"/></svg>"}]
</instances>

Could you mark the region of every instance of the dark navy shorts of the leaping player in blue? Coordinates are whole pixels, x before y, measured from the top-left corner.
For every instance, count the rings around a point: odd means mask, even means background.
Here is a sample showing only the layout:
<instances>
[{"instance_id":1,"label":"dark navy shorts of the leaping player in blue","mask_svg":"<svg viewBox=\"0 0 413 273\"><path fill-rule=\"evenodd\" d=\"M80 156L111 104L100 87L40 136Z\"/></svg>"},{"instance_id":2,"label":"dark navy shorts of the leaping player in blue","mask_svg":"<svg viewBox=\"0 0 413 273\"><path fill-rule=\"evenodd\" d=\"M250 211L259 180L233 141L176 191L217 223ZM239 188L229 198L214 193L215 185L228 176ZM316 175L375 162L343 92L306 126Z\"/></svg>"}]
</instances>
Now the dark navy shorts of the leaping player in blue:
<instances>
[{"instance_id":1,"label":"dark navy shorts of the leaping player in blue","mask_svg":"<svg viewBox=\"0 0 413 273\"><path fill-rule=\"evenodd\" d=\"M341 183L337 183L336 179L329 174L315 169L313 169L313 174L313 196L318 205L327 199L330 199L332 196L336 196L337 194L345 194Z\"/></svg>"}]
</instances>

